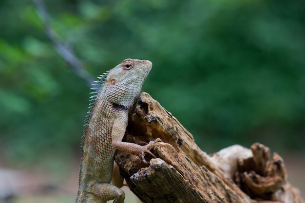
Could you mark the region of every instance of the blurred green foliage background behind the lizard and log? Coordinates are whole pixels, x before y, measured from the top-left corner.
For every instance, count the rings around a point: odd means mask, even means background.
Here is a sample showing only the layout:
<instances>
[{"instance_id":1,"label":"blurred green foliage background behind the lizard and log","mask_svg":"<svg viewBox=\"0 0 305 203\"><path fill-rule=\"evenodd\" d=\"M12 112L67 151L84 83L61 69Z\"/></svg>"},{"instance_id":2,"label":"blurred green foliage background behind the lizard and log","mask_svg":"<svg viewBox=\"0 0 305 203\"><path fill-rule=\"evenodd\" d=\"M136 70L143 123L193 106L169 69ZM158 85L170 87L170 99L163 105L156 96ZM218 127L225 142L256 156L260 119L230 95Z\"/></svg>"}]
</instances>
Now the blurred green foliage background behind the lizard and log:
<instances>
[{"instance_id":1,"label":"blurred green foliage background behind the lizard and log","mask_svg":"<svg viewBox=\"0 0 305 203\"><path fill-rule=\"evenodd\" d=\"M142 91L202 150L260 142L304 196L304 0L44 3L55 36L93 77L125 58L151 60ZM0 203L76 198L91 91L40 17L30 0L0 0Z\"/></svg>"}]
</instances>

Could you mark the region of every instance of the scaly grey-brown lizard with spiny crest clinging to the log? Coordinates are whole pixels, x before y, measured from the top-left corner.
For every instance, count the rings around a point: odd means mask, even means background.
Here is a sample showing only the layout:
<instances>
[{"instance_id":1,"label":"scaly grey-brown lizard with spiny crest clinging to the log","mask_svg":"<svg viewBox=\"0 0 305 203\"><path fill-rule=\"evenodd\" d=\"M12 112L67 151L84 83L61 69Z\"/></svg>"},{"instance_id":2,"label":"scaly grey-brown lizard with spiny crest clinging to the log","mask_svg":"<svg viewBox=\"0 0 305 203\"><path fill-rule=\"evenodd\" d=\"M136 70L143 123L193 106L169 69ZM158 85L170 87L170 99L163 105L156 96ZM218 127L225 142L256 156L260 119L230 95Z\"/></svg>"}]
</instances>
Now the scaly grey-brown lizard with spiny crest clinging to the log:
<instances>
[{"instance_id":1,"label":"scaly grey-brown lizard with spiny crest clinging to the log","mask_svg":"<svg viewBox=\"0 0 305 203\"><path fill-rule=\"evenodd\" d=\"M84 133L81 141L81 163L79 188L76 203L124 203L125 193L118 167L114 168L114 151L141 153L145 163L145 153L161 139L141 146L122 142L125 135L128 112L139 95L144 80L152 69L149 60L125 59L105 74L97 77L91 96ZM119 183L121 182L121 183ZM112 184L111 184L112 183Z\"/></svg>"}]
</instances>

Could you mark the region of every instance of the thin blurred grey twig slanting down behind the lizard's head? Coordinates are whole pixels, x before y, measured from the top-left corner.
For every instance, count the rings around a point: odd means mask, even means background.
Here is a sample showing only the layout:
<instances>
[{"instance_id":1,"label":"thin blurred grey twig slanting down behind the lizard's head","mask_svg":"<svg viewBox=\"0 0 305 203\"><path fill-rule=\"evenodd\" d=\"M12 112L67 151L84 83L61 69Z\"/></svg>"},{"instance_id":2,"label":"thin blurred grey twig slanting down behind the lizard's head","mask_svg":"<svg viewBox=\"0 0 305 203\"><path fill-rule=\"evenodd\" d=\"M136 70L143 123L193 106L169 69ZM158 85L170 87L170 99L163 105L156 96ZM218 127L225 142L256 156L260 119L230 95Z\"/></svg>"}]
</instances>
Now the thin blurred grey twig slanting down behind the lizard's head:
<instances>
[{"instance_id":1,"label":"thin blurred grey twig slanting down behind the lizard's head","mask_svg":"<svg viewBox=\"0 0 305 203\"><path fill-rule=\"evenodd\" d=\"M93 76L87 72L80 60L73 54L73 51L63 44L63 42L55 35L51 26L49 14L41 0L32 0L37 7L38 15L42 21L44 32L54 44L57 53L70 65L73 71L82 79L84 79L89 87L94 83Z\"/></svg>"}]
</instances>

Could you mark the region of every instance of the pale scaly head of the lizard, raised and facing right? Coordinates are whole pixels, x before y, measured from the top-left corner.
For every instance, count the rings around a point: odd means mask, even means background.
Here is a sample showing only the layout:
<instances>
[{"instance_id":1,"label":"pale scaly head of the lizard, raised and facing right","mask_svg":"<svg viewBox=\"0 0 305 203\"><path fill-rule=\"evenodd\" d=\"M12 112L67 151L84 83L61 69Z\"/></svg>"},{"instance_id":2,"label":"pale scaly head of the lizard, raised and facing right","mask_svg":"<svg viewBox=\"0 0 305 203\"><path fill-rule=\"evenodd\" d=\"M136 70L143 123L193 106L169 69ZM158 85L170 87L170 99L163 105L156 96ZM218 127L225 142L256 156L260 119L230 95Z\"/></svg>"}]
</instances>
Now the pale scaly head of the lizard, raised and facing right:
<instances>
[{"instance_id":1,"label":"pale scaly head of the lizard, raised and facing right","mask_svg":"<svg viewBox=\"0 0 305 203\"><path fill-rule=\"evenodd\" d=\"M152 69L149 60L125 59L108 72L105 97L108 102L130 108Z\"/></svg>"}]
</instances>

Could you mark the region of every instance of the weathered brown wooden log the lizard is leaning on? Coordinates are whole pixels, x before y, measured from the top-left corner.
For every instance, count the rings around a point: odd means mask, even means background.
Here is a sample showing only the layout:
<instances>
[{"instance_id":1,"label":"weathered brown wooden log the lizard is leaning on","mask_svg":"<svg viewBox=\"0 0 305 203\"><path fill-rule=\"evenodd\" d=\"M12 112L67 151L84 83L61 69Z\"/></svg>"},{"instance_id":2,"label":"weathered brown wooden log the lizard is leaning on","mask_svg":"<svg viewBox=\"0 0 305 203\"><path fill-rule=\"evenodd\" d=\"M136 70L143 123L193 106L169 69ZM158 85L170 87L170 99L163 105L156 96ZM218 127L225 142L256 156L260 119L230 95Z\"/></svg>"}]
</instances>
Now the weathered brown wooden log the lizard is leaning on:
<instances>
[{"instance_id":1,"label":"weathered brown wooden log the lizard is leaning on","mask_svg":"<svg viewBox=\"0 0 305 203\"><path fill-rule=\"evenodd\" d=\"M269 160L260 144L235 145L209 156L191 133L157 101L143 92L130 112L124 141L152 148L158 157L116 151L121 175L143 203L304 203L287 182L282 158Z\"/></svg>"}]
</instances>

